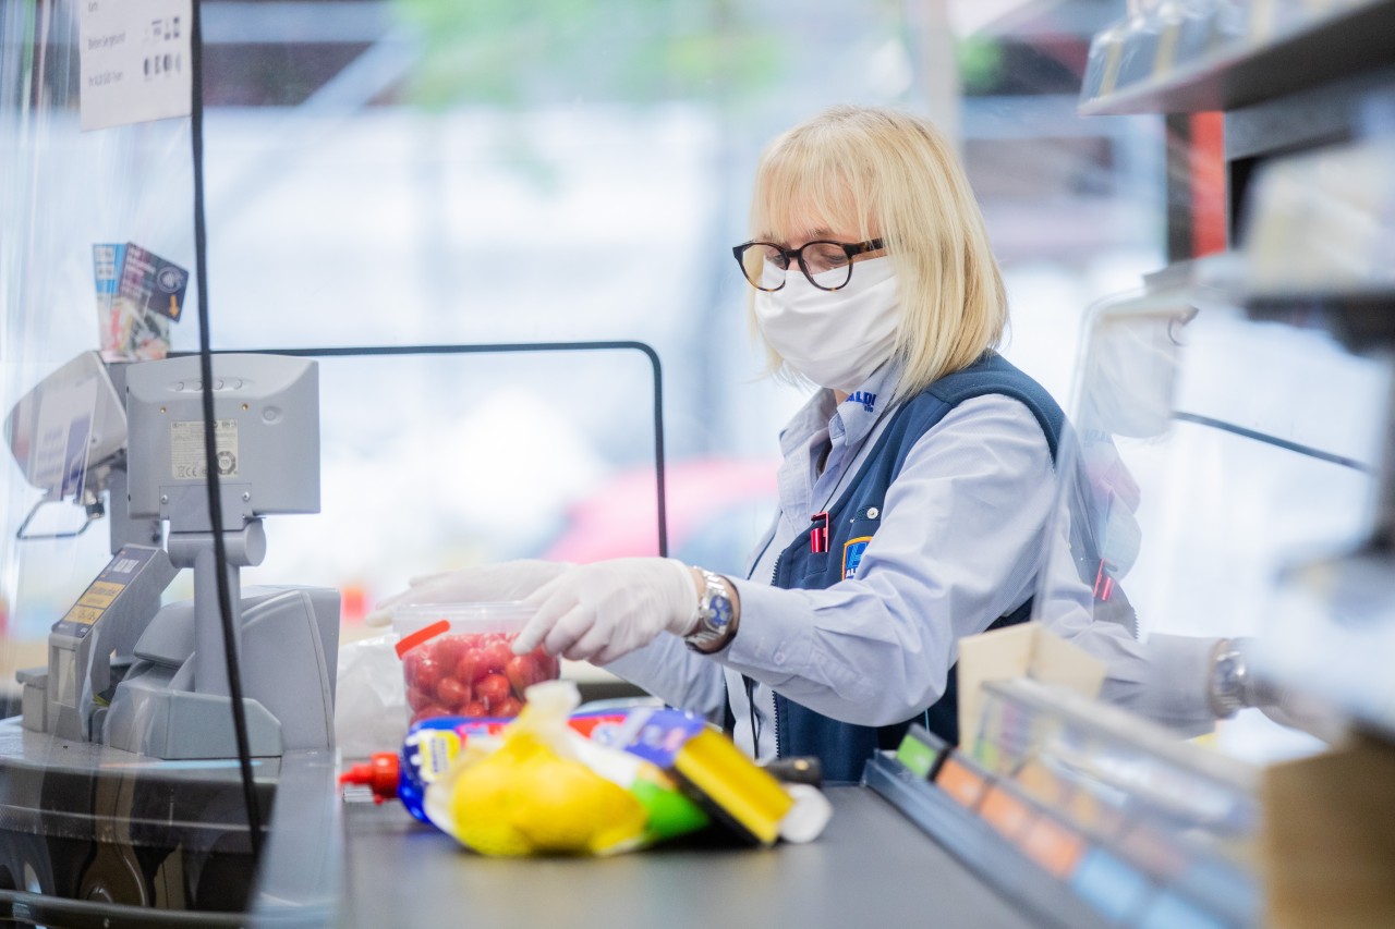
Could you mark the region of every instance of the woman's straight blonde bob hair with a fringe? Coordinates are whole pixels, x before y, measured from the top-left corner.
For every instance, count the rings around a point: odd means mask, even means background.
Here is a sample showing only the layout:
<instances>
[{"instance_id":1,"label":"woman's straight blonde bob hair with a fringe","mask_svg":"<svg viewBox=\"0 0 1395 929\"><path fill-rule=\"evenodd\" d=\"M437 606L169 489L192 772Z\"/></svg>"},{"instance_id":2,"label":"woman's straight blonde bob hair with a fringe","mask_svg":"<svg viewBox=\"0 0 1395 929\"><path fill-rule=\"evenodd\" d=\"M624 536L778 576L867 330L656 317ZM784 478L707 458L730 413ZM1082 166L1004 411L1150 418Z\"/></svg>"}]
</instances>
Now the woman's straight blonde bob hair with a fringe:
<instances>
[{"instance_id":1,"label":"woman's straight blonde bob hair with a fringe","mask_svg":"<svg viewBox=\"0 0 1395 929\"><path fill-rule=\"evenodd\" d=\"M1003 278L964 169L928 120L836 106L777 137L756 167L752 234L788 246L820 226L886 243L903 307L897 396L997 346L1007 325ZM759 333L753 312L751 322Z\"/></svg>"}]
</instances>

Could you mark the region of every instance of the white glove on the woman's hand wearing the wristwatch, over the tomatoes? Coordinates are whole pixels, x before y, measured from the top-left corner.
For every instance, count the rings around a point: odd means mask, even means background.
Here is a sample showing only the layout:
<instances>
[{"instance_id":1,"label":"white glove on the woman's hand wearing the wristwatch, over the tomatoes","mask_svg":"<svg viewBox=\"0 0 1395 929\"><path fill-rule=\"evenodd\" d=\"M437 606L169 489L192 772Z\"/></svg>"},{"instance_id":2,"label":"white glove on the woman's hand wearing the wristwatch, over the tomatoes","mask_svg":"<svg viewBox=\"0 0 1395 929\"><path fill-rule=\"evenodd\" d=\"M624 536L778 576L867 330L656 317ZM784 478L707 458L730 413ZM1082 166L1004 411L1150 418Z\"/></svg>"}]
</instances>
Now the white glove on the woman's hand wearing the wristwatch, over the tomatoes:
<instances>
[{"instance_id":1,"label":"white glove on the woman's hand wearing the wristwatch, over the tomatoes","mask_svg":"<svg viewBox=\"0 0 1395 929\"><path fill-rule=\"evenodd\" d=\"M573 661L605 664L698 625L698 586L675 558L615 558L575 565L525 603L537 612L513 642L516 654L543 646Z\"/></svg>"}]
</instances>

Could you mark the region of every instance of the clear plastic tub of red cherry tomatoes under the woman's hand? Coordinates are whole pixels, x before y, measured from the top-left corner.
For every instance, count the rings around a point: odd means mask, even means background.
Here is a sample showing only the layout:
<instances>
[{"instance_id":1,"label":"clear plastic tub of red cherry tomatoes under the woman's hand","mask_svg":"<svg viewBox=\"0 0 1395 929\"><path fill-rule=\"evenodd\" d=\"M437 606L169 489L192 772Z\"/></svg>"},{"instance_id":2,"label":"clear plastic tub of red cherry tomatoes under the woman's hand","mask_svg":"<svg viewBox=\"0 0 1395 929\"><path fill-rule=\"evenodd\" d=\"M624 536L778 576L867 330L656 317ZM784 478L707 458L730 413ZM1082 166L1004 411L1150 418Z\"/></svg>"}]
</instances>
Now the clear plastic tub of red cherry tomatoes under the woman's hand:
<instances>
[{"instance_id":1,"label":"clear plastic tub of red cherry tomatoes under the woman's hand","mask_svg":"<svg viewBox=\"0 0 1395 929\"><path fill-rule=\"evenodd\" d=\"M512 718L523 690L555 681L561 667L541 647L513 654L533 611L522 603L405 605L393 611L412 723L437 716Z\"/></svg>"}]
</instances>

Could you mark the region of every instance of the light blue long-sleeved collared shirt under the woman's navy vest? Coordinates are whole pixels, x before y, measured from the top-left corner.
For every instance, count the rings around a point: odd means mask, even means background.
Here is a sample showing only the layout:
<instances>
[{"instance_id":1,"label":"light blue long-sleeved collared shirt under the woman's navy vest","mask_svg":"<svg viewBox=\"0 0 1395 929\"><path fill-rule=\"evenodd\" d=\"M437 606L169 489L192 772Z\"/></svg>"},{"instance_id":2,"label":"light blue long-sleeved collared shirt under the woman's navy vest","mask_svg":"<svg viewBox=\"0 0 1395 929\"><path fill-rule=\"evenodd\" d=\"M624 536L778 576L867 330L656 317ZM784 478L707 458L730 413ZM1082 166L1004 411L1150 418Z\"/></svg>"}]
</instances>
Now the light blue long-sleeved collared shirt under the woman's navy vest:
<instances>
[{"instance_id":1,"label":"light blue long-sleeved collared shirt under the woman's navy vest","mask_svg":"<svg viewBox=\"0 0 1395 929\"><path fill-rule=\"evenodd\" d=\"M894 384L887 364L841 405L819 391L780 434L780 509L749 579L732 579L741 625L727 649L704 657L663 635L608 668L714 721L730 699L737 743L762 759L774 755L774 690L862 725L898 723L935 703L958 639L1032 596L1057 529L1056 476L1031 410L1000 395L965 400L911 448L851 579L823 590L771 587L780 551L845 490L886 427ZM1209 720L1204 663L1214 640L1154 636L1145 647L1123 626L1091 621L1089 589L1069 557L1057 561L1052 569L1071 572L1080 598L1056 603L1043 619L1105 660L1102 696L1169 723ZM1179 672L1187 675L1180 683ZM756 681L753 713L742 675Z\"/></svg>"}]
</instances>

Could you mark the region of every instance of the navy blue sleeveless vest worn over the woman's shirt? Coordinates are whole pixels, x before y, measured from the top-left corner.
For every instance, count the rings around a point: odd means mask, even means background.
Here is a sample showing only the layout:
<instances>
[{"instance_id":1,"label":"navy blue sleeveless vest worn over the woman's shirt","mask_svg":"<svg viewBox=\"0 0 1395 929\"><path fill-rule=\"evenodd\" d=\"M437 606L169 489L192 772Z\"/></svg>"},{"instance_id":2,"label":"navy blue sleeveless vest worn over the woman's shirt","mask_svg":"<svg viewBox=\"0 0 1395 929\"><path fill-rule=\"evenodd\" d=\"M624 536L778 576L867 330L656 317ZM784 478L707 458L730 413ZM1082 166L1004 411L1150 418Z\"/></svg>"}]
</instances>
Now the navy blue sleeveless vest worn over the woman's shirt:
<instances>
[{"instance_id":1,"label":"navy blue sleeveless vest worn over the woman's shirt","mask_svg":"<svg viewBox=\"0 0 1395 929\"><path fill-rule=\"evenodd\" d=\"M901 471L911 446L944 418L954 406L975 396L1002 393L1020 400L1042 427L1052 460L1060 441L1064 414L1046 391L996 353L988 353L963 371L949 374L901 405L868 453L852 484L829 509L827 544L812 551L810 534L822 526L810 523L776 559L771 583L776 587L817 590L851 577L862 550L877 530L886 491ZM822 522L822 520L820 520ZM951 540L946 540L951 543ZM1031 600L1000 617L989 628L1024 622ZM877 749L894 749L912 721L958 743L958 686L950 668L944 693L930 707L910 720L883 727L840 723L776 695L776 755L816 755L829 781L858 781L862 766ZM752 686L748 683L748 692Z\"/></svg>"}]
</instances>

